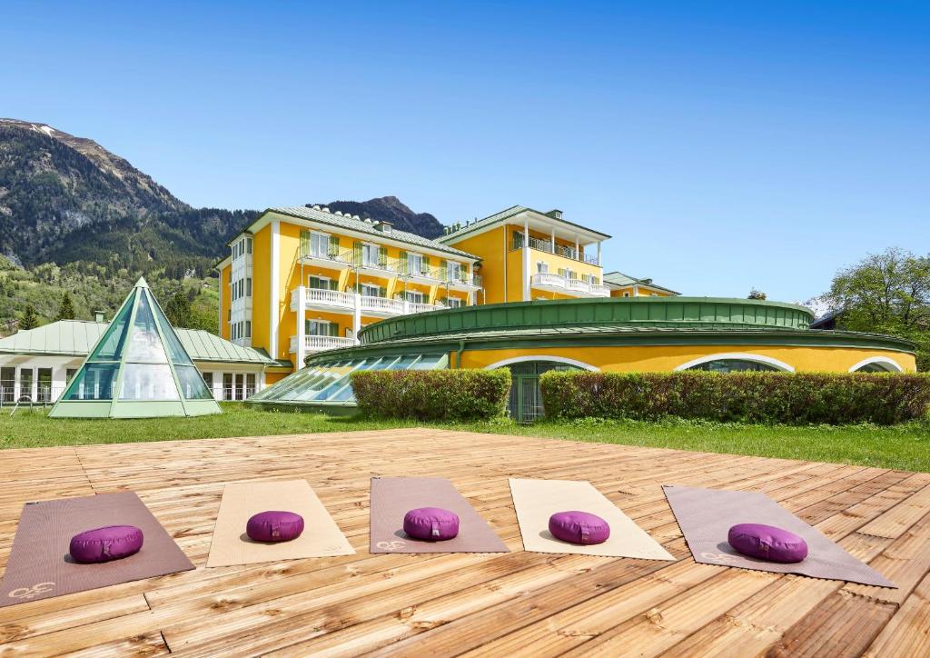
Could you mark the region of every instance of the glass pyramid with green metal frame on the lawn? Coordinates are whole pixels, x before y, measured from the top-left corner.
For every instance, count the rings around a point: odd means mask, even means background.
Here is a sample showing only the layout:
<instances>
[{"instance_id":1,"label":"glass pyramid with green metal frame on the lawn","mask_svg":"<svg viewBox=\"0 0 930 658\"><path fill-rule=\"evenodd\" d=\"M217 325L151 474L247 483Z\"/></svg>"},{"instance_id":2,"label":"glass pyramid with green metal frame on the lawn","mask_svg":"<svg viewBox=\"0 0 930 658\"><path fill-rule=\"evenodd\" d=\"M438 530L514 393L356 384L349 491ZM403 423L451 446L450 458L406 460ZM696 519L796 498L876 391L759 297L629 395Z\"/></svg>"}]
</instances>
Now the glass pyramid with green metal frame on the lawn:
<instances>
[{"instance_id":1,"label":"glass pyramid with green metal frame on the lawn","mask_svg":"<svg viewBox=\"0 0 930 658\"><path fill-rule=\"evenodd\" d=\"M140 278L48 416L153 418L219 412L204 378Z\"/></svg>"}]
</instances>

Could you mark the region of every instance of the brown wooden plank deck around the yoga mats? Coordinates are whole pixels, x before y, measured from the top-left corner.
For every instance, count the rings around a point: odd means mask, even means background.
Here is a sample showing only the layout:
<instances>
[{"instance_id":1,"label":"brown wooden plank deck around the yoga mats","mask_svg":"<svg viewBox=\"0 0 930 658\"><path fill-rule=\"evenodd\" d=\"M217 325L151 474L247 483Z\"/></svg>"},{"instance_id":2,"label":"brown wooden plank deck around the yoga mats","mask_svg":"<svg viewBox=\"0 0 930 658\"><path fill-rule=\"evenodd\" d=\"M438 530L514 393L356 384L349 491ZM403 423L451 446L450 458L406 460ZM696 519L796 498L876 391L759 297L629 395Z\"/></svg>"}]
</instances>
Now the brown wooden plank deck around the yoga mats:
<instances>
[{"instance_id":1,"label":"brown wooden plank deck around the yoga mats","mask_svg":"<svg viewBox=\"0 0 930 658\"><path fill-rule=\"evenodd\" d=\"M445 476L513 551L368 554L368 478ZM509 476L590 479L678 558L525 553ZM305 477L358 551L205 569L223 483ZM900 585L699 565L659 487L764 491ZM930 474L432 430L0 452L26 501L135 490L196 571L0 609L0 654L930 654Z\"/></svg>"}]
</instances>

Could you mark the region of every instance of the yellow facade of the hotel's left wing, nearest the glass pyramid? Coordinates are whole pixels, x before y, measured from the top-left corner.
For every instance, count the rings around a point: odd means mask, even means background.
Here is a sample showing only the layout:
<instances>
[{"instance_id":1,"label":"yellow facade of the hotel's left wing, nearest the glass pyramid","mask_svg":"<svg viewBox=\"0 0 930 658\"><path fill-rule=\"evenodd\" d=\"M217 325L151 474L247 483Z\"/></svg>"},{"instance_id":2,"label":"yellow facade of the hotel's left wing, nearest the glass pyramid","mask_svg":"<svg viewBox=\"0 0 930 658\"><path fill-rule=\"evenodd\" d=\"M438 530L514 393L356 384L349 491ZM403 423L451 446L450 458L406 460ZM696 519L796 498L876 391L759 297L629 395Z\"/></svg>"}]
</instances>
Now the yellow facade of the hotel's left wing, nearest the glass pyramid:
<instances>
[{"instance_id":1,"label":"yellow facade of the hotel's left wing, nearest the glass pyramid","mask_svg":"<svg viewBox=\"0 0 930 658\"><path fill-rule=\"evenodd\" d=\"M448 276L449 266L446 263L458 263L462 273L470 274L475 259L450 253L449 248L438 244L405 244L398 241L402 237L392 238L392 232L382 237L371 235L368 229L367 233L360 235L359 232L325 221L332 217L334 222L345 222L348 216L318 213L315 217L322 217L324 221L268 211L257 222L253 222L249 227L251 230L246 230L231 243L235 245L244 235L252 238L250 253L244 256L242 252L234 252L234 256L250 259L251 311L246 311L246 319L251 323L251 333L241 337L241 340L247 341L251 347L265 349L272 358L289 360L296 369L302 365L301 359L304 356L300 341L304 331L301 329L318 330L321 326L326 329L326 334L314 334L318 338L314 346L317 342L326 345L324 348L347 346L352 344L358 329L383 319L385 314L397 315L405 311L431 310L432 307L438 309L453 303L468 305L476 302L474 286L463 286L458 280L453 282L442 279L444 274ZM333 258L309 257L305 253L306 241L312 232L325 235L326 255ZM378 248L379 259L386 259L384 269L356 262L355 254L360 248L356 245L361 244ZM404 259L412 259L414 256L422 259L428 275L414 277L401 271ZM236 316L236 305L229 293L236 283L232 280L233 271L233 264L224 264L220 272L224 277L224 290L220 300L219 331L224 338L231 337L231 309L232 315ZM311 289L312 278L326 279L330 283L323 291ZM411 280L414 278L418 280ZM424 283L424 280L430 283ZM367 314L364 304L361 304L360 309L346 306L345 300L351 299L352 293L362 291L365 284L378 289L376 297L392 301L387 311ZM314 291L319 293L320 299L314 298L304 309L297 308L298 298L292 298L292 295L301 288L307 290L307 294ZM340 293L343 297L334 302L330 296L323 294L326 291ZM404 300L416 303L407 304Z\"/></svg>"}]
</instances>

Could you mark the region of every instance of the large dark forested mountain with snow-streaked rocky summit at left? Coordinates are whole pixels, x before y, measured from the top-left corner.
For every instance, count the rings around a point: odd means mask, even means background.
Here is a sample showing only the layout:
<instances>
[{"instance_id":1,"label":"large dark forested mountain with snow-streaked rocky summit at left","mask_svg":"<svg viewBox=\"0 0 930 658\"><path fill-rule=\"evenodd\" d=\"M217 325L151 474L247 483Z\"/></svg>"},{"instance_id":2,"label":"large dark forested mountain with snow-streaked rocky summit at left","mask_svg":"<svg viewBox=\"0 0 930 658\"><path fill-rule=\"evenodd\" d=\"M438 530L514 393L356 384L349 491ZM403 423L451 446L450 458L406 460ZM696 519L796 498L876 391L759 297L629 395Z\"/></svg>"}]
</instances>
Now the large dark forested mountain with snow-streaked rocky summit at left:
<instances>
[{"instance_id":1,"label":"large dark forested mountain with snow-streaked rocky summit at left","mask_svg":"<svg viewBox=\"0 0 930 658\"><path fill-rule=\"evenodd\" d=\"M206 274L255 211L191 208L96 141L0 119L0 254Z\"/></svg>"}]
</instances>

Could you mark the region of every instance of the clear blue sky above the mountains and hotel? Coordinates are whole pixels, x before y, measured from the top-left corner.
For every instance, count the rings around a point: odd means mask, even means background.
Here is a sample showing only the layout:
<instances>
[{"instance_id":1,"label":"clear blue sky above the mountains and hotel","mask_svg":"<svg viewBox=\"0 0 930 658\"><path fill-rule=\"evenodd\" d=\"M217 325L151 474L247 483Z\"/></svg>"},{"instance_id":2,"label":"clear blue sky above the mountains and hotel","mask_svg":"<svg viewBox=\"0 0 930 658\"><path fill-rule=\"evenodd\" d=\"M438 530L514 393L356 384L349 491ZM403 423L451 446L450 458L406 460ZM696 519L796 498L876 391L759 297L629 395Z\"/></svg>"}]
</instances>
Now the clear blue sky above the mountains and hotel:
<instances>
[{"instance_id":1,"label":"clear blue sky above the mountains and hotel","mask_svg":"<svg viewBox=\"0 0 930 658\"><path fill-rule=\"evenodd\" d=\"M0 116L195 206L562 208L687 294L930 251L926 3L193 5L4 2Z\"/></svg>"}]
</instances>

